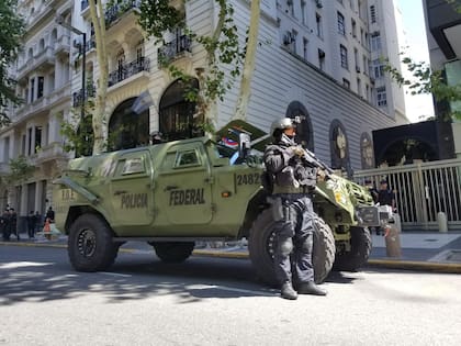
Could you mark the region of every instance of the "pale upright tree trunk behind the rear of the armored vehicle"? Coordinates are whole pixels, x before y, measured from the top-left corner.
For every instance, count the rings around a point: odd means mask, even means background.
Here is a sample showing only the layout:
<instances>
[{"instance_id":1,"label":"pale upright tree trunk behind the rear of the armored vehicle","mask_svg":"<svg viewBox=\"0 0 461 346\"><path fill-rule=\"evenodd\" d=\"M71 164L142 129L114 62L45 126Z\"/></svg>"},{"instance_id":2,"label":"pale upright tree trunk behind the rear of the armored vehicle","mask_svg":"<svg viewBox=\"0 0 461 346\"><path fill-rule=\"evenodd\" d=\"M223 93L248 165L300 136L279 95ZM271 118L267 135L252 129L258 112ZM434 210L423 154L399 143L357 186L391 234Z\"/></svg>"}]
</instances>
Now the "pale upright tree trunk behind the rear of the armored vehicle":
<instances>
[{"instance_id":1,"label":"pale upright tree trunk behind the rear of the armored vehicle","mask_svg":"<svg viewBox=\"0 0 461 346\"><path fill-rule=\"evenodd\" d=\"M109 64L105 47L105 20L102 1L98 1L98 3L95 3L95 0L89 0L89 4L91 22L93 23L94 27L99 67L94 113L92 116L94 135L93 155L98 155L104 152L106 148L106 135L104 125L106 123L105 98L108 91Z\"/></svg>"}]
</instances>

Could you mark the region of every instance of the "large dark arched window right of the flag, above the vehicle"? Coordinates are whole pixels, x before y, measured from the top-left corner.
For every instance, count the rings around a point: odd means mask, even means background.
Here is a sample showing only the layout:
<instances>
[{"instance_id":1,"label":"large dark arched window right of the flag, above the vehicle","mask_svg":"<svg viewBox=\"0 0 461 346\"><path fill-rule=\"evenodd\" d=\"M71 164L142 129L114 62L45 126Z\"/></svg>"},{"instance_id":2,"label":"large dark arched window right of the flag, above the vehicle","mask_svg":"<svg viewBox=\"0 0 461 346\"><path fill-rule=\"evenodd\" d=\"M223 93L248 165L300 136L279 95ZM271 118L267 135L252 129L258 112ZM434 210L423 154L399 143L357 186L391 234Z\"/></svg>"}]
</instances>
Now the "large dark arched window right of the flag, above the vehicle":
<instances>
[{"instance_id":1,"label":"large dark arched window right of the flag, above the vehicle","mask_svg":"<svg viewBox=\"0 0 461 346\"><path fill-rule=\"evenodd\" d=\"M195 102L184 99L188 89L199 89L199 81L192 79L190 85L181 80L172 82L160 100L160 132L168 141L192 138L203 135L203 118L194 118Z\"/></svg>"}]
</instances>

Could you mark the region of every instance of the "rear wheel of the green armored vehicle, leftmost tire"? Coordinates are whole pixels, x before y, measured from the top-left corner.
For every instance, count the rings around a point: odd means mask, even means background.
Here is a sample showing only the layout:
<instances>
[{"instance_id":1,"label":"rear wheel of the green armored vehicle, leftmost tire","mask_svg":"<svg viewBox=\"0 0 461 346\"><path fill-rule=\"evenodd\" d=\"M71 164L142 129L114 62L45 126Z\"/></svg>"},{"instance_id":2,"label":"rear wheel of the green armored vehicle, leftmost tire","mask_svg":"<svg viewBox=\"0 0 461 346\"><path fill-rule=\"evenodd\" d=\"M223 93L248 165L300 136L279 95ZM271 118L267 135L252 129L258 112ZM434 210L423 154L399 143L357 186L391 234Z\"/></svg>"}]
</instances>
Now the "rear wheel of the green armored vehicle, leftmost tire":
<instances>
[{"instance_id":1,"label":"rear wheel of the green armored vehicle, leftmost tire","mask_svg":"<svg viewBox=\"0 0 461 346\"><path fill-rule=\"evenodd\" d=\"M108 223L95 214L83 214L70 226L67 252L77 271L108 269L115 260L119 245L112 242Z\"/></svg>"}]
</instances>

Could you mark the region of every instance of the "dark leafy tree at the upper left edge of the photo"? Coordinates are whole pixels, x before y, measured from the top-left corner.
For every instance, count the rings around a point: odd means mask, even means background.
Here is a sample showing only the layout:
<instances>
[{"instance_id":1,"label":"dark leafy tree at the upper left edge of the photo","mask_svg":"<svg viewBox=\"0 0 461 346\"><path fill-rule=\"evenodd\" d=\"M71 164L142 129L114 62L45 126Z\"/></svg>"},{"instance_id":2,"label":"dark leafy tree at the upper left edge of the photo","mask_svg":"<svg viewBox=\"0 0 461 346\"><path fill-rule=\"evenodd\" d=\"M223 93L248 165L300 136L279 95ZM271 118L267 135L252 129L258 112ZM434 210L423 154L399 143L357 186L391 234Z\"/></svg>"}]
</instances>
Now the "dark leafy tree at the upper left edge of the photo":
<instances>
[{"instance_id":1,"label":"dark leafy tree at the upper left edge of the photo","mask_svg":"<svg viewBox=\"0 0 461 346\"><path fill-rule=\"evenodd\" d=\"M21 101L15 94L15 81L8 72L9 65L18 57L25 27L16 8L18 0L0 1L0 126L10 123L4 112L7 102L18 104Z\"/></svg>"}]
</instances>

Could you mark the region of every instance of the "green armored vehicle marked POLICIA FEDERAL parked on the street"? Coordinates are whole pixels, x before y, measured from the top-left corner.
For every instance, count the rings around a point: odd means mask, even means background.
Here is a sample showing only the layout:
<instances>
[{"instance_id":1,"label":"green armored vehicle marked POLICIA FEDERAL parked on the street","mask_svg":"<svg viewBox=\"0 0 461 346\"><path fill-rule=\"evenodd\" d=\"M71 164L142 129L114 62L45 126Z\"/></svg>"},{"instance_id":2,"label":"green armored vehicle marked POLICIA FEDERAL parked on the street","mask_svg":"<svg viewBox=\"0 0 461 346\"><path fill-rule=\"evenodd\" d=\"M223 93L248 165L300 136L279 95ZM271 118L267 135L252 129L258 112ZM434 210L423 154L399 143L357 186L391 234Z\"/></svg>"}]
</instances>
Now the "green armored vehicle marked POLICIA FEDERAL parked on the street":
<instances>
[{"instance_id":1,"label":"green armored vehicle marked POLICIA FEDERAL parked on the street","mask_svg":"<svg viewBox=\"0 0 461 346\"><path fill-rule=\"evenodd\" d=\"M147 242L161 260L180 263L195 242L246 237L256 272L273 283L273 220L261 187L263 135L235 121L216 138L70 160L54 181L53 202L56 227L68 235L74 268L106 269L127 241ZM314 208L316 282L331 267L360 268L371 250L367 226L389 215L373 205L366 189L335 175L318 181Z\"/></svg>"}]
</instances>

